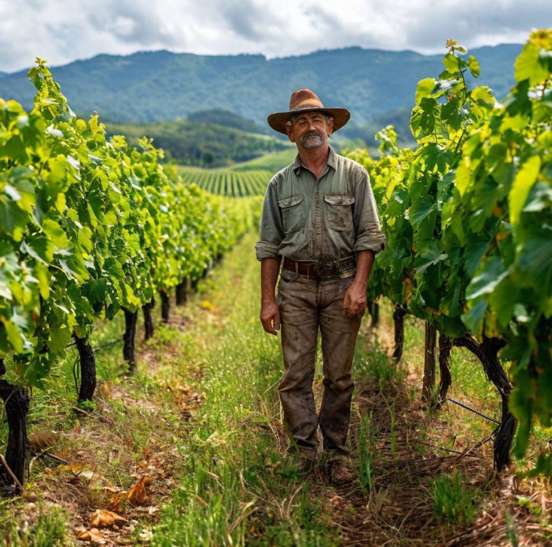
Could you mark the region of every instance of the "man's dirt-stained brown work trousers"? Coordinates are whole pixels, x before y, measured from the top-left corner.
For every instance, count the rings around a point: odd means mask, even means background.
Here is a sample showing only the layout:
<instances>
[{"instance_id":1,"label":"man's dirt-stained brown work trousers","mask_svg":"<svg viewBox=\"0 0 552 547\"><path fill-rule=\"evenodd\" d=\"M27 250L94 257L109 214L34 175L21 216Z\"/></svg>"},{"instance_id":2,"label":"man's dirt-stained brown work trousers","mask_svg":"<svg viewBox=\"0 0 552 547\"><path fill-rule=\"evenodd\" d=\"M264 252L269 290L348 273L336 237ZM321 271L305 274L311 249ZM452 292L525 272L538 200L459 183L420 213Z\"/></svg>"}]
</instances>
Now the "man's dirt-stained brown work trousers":
<instances>
[{"instance_id":1,"label":"man's dirt-stained brown work trousers","mask_svg":"<svg viewBox=\"0 0 552 547\"><path fill-rule=\"evenodd\" d=\"M282 323L284 377L278 387L290 448L317 452L317 428L323 449L346 454L355 384L351 364L361 316L343 313L345 292L354 277L315 279L283 269L277 302ZM319 415L313 396L318 330L322 336L324 393Z\"/></svg>"}]
</instances>

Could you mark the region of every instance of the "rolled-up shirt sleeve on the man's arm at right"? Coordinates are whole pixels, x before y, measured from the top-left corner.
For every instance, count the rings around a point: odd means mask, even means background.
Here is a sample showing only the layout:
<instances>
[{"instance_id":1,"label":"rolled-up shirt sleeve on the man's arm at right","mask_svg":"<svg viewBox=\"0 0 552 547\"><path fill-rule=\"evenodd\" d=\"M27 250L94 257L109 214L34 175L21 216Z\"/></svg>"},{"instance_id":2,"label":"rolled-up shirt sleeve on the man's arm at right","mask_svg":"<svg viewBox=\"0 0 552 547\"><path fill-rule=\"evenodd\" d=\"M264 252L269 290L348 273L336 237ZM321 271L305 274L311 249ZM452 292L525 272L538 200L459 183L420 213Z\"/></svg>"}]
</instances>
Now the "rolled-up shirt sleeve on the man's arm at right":
<instances>
[{"instance_id":1,"label":"rolled-up shirt sleeve on the man's arm at right","mask_svg":"<svg viewBox=\"0 0 552 547\"><path fill-rule=\"evenodd\" d=\"M355 212L354 224L356 239L353 253L358 251L381 251L386 244L382 233L382 223L377 212L370 177L364 167L359 166L355 173Z\"/></svg>"}]
</instances>

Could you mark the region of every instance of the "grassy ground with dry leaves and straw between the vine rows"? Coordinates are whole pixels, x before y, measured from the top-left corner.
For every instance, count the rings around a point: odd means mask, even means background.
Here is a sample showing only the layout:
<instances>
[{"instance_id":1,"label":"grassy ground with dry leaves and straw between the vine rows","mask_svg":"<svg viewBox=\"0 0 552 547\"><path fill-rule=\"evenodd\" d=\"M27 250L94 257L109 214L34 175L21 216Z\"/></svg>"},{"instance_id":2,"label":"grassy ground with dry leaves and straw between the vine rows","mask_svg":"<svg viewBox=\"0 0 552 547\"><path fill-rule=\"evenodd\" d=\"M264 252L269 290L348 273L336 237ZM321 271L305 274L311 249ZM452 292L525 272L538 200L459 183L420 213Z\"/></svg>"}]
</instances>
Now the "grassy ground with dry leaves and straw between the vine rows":
<instances>
[{"instance_id":1,"label":"grassy ground with dry leaves and straw between the vine rows","mask_svg":"<svg viewBox=\"0 0 552 547\"><path fill-rule=\"evenodd\" d=\"M135 376L120 376L118 349L98 355L97 401L84 414L74 410L72 363L34 394L31 432L54 431L56 453L69 463L35 459L26 495L0 500L6 545L74 544L92 527L90 514L104 509L126 519L98 530L106 545L552 541L549 484L518 477L514 466L493 474L491 443L480 443L492 424L458 407L428 415L420 402L423 329L407 321L397 367L388 358L389 310L375 330L364 320L355 354L357 481L334 488L322 462L307 477L284 463L281 354L258 320L255 239L246 236L185 307L172 308L169 325L139 347ZM115 332L120 320L98 338ZM451 396L497 414L499 400L477 363L455 352L452 373ZM321 383L318 372L318 400ZM535 450L544 441L535 439ZM146 498L126 503L121 492L143 477Z\"/></svg>"}]
</instances>

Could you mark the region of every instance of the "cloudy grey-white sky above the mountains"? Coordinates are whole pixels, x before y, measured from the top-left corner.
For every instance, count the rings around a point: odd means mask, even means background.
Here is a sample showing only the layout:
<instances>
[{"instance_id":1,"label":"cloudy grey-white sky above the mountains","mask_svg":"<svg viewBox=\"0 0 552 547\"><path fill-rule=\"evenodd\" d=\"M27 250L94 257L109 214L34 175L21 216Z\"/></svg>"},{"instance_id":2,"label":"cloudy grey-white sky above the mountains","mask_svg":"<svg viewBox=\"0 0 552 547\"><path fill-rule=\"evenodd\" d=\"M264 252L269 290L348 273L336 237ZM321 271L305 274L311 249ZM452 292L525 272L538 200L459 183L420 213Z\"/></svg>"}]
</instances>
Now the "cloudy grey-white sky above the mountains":
<instances>
[{"instance_id":1,"label":"cloudy grey-white sky above the mountains","mask_svg":"<svg viewBox=\"0 0 552 547\"><path fill-rule=\"evenodd\" d=\"M362 46L423 53L522 43L551 0L0 0L0 70L168 49L286 57Z\"/></svg>"}]
</instances>

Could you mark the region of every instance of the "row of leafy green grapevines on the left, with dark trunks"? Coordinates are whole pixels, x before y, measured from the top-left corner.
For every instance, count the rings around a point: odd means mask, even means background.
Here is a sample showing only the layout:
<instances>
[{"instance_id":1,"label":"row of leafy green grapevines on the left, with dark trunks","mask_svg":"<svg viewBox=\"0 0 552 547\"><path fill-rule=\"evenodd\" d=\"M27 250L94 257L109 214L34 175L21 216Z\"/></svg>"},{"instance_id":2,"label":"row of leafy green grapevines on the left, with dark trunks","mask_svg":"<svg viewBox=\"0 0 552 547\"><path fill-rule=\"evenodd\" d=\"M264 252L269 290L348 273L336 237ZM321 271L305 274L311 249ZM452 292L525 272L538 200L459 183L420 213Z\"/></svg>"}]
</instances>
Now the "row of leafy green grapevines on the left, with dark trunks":
<instances>
[{"instance_id":1,"label":"row of leafy green grapevines on the left, with dark trunks","mask_svg":"<svg viewBox=\"0 0 552 547\"><path fill-rule=\"evenodd\" d=\"M10 428L6 473L19 483L27 387L40 386L76 345L79 400L92 399L95 321L124 311L132 366L137 311L151 334L154 297L166 318L175 288L194 285L259 209L255 198L184 184L147 139L139 148L121 136L106 140L97 116L72 113L45 61L29 76L32 111L0 99L0 396Z\"/></svg>"}]
</instances>

